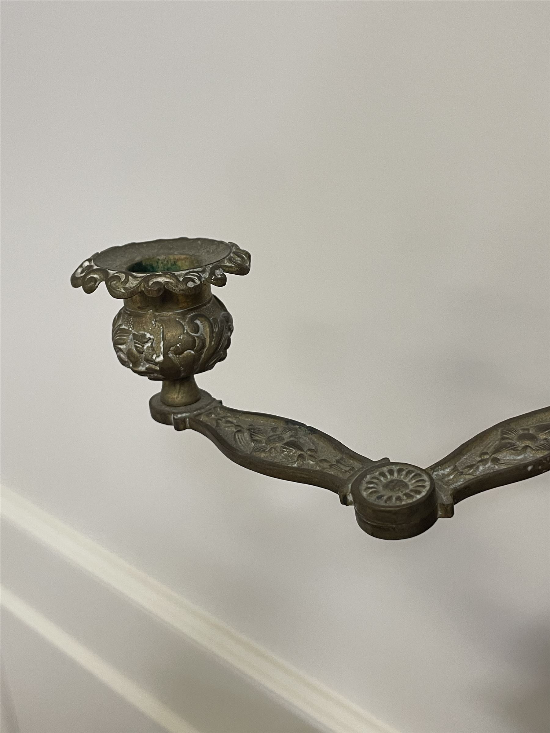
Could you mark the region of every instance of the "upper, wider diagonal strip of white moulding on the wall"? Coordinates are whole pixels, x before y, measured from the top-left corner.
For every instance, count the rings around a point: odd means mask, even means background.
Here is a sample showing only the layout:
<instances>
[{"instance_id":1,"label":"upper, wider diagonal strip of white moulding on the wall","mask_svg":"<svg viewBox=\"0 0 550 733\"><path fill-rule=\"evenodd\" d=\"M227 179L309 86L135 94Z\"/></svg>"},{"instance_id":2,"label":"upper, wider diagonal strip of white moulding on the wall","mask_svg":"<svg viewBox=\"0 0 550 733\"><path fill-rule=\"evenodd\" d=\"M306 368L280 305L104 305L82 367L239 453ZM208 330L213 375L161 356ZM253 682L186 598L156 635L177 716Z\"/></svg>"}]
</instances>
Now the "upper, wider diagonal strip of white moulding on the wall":
<instances>
[{"instance_id":1,"label":"upper, wider diagonal strip of white moulding on the wall","mask_svg":"<svg viewBox=\"0 0 550 733\"><path fill-rule=\"evenodd\" d=\"M329 731L397 733L340 693L286 663L7 487L1 490L0 513L37 542L132 600ZM6 597L11 603L10 595ZM23 609L21 600L16 599L14 603L20 604L17 606L20 611ZM26 618L34 619L32 614L37 611L29 608L25 611ZM48 619L45 622L51 623ZM181 729L182 733L186 730L191 729Z\"/></svg>"}]
</instances>

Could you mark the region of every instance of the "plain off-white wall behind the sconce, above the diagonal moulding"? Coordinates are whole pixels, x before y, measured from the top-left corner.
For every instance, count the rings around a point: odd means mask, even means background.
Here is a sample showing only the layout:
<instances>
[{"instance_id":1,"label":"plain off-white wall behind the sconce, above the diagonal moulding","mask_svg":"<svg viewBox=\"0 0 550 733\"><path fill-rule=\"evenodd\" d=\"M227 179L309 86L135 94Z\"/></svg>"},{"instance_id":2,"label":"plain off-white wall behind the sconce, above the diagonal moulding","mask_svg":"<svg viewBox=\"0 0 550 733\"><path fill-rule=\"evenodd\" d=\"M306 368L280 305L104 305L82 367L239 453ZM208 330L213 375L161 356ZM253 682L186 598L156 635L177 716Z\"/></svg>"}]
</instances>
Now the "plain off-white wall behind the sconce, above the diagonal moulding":
<instances>
[{"instance_id":1,"label":"plain off-white wall behind the sconce, above the diagonal moulding","mask_svg":"<svg viewBox=\"0 0 550 733\"><path fill-rule=\"evenodd\" d=\"M234 240L227 405L429 465L548 400L543 2L5 2L2 481L402 733L539 732L544 476L403 542L150 419L70 288ZM40 732L42 733L42 732Z\"/></svg>"}]
</instances>

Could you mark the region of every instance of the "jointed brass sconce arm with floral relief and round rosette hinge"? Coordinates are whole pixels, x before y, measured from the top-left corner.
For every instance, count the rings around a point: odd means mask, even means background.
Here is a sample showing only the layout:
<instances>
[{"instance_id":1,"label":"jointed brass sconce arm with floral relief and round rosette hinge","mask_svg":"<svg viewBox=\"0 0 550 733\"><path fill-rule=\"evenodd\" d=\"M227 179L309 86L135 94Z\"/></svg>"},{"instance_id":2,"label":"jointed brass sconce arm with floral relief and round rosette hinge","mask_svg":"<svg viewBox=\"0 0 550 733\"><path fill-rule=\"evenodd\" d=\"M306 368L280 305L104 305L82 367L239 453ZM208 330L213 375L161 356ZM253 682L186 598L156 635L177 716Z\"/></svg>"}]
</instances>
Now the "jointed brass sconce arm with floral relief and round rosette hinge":
<instances>
[{"instance_id":1,"label":"jointed brass sconce arm with floral relief and round rosette hinge","mask_svg":"<svg viewBox=\"0 0 550 733\"><path fill-rule=\"evenodd\" d=\"M202 432L244 468L334 491L381 539L414 537L452 517L458 501L550 469L550 408L500 422L425 469L371 460L314 427L227 408L202 390L194 410L167 408L157 394L150 411L176 430Z\"/></svg>"}]
</instances>

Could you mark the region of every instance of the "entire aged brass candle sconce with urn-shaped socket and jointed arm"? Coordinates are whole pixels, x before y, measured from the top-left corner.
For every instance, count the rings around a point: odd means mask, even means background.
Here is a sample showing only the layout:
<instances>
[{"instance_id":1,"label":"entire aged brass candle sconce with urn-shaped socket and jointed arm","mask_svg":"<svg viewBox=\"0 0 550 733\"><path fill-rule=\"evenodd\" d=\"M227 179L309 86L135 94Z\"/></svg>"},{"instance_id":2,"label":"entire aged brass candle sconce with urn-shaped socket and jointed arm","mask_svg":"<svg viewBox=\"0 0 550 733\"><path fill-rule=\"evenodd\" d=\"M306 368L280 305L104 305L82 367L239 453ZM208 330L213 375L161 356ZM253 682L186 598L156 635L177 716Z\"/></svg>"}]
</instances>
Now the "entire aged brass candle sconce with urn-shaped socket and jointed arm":
<instances>
[{"instance_id":1,"label":"entire aged brass candle sconce with urn-shaped socket and jointed arm","mask_svg":"<svg viewBox=\"0 0 550 733\"><path fill-rule=\"evenodd\" d=\"M222 405L194 378L222 361L231 342L232 317L211 286L249 270L249 253L234 243L180 237L103 250L71 284L93 292L104 281L124 301L114 350L125 367L161 381L149 403L153 419L202 432L244 468L334 491L373 537L414 537L452 517L458 501L550 469L550 408L496 424L419 468L371 460L294 420Z\"/></svg>"}]
</instances>

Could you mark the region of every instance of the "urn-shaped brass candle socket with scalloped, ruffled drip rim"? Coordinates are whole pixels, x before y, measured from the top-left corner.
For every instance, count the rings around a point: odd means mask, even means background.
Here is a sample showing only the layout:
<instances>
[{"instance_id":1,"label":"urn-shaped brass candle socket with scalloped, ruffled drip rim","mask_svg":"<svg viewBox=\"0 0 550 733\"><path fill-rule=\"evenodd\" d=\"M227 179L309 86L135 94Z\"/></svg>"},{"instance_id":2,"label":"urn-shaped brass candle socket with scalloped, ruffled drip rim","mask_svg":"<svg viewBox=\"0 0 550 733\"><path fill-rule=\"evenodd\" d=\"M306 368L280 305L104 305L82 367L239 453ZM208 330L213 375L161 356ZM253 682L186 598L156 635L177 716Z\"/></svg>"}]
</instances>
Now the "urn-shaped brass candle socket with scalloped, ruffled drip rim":
<instances>
[{"instance_id":1,"label":"urn-shaped brass candle socket with scalloped, ruffled drip rim","mask_svg":"<svg viewBox=\"0 0 550 733\"><path fill-rule=\"evenodd\" d=\"M234 243L180 237L106 249L71 282L93 292L104 281L124 300L112 328L117 357L136 374L162 380L161 402L176 407L200 399L194 375L223 361L231 343L232 317L211 285L249 269L249 253Z\"/></svg>"}]
</instances>

